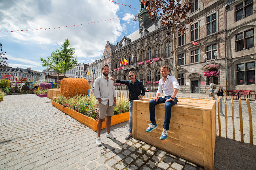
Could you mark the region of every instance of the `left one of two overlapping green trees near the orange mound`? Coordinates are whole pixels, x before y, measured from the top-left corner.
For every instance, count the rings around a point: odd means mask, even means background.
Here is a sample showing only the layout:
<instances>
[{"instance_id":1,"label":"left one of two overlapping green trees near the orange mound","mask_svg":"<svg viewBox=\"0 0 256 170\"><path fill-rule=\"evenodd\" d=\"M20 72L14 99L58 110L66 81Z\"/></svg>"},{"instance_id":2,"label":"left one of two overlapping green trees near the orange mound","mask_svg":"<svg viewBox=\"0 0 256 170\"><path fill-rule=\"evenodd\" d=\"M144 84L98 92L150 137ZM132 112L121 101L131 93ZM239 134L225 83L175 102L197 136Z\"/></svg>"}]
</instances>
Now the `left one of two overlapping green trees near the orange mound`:
<instances>
[{"instance_id":1,"label":"left one of two overlapping green trees near the orange mound","mask_svg":"<svg viewBox=\"0 0 256 170\"><path fill-rule=\"evenodd\" d=\"M43 67L47 67L48 69L53 69L55 72L57 72L57 88L59 89L59 74L61 74L64 71L63 68L63 61L61 58L61 52L59 49L55 50L51 53L51 56L47 57L46 59L40 58L40 60L43 62Z\"/></svg>"}]
</instances>

